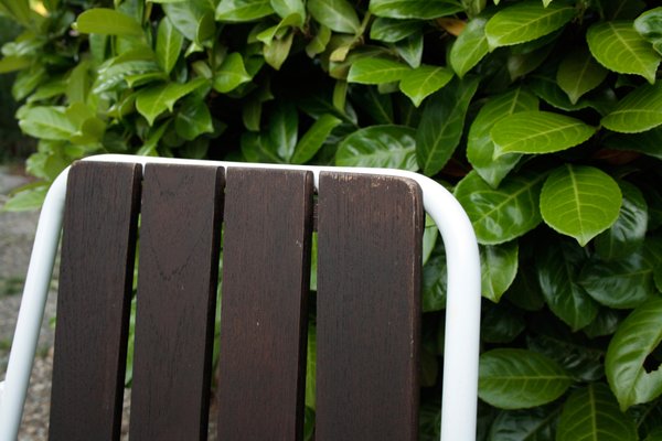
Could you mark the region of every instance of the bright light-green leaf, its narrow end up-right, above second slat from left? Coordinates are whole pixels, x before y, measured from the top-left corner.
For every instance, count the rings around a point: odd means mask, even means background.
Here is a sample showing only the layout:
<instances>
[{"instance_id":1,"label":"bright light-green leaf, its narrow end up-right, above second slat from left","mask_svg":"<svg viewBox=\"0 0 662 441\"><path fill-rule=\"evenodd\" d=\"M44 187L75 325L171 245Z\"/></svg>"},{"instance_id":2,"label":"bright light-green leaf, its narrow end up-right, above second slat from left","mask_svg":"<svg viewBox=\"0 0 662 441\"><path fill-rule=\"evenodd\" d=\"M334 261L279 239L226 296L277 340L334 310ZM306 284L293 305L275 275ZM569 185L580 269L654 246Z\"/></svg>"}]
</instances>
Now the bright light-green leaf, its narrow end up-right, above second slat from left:
<instances>
[{"instance_id":1,"label":"bright light-green leaf, its narrow end up-right, above second slat from left","mask_svg":"<svg viewBox=\"0 0 662 441\"><path fill-rule=\"evenodd\" d=\"M172 111L172 107L178 99L189 95L206 83L204 78L195 78L185 84L168 83L147 87L141 89L136 96L136 109L152 126L154 119L163 111Z\"/></svg>"}]
</instances>

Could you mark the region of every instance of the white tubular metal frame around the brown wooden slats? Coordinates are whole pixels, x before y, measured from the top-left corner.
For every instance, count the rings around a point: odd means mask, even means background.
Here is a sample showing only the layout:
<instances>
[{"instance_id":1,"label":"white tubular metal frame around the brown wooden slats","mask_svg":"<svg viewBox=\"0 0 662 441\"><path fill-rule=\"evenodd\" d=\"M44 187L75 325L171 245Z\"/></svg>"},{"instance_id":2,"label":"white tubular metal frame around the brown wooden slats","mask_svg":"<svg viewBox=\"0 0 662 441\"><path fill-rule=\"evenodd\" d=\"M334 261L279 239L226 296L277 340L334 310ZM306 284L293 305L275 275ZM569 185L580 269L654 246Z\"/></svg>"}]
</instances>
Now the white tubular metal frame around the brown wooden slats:
<instances>
[{"instance_id":1,"label":"white tubular metal frame around the brown wooden slats","mask_svg":"<svg viewBox=\"0 0 662 441\"><path fill-rule=\"evenodd\" d=\"M469 218L440 184L420 174L389 169L277 165L102 154L85 161L222 165L309 170L319 190L322 171L409 178L423 190L423 203L444 240L448 265L441 440L476 440L478 353L480 334L480 259ZM32 370L46 294L60 241L68 168L55 180L44 201L36 228L23 299L14 332L6 380L0 383L0 441L14 441Z\"/></svg>"}]
</instances>

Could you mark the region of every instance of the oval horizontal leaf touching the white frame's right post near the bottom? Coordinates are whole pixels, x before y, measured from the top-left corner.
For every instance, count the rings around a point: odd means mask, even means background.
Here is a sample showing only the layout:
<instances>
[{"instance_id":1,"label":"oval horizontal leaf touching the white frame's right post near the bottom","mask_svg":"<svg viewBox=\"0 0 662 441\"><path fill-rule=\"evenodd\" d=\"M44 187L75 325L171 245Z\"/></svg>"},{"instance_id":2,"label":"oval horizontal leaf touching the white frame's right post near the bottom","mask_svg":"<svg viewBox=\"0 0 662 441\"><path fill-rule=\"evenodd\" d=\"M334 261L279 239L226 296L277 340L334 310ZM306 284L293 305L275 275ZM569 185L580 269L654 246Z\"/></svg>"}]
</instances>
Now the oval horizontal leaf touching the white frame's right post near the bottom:
<instances>
[{"instance_id":1,"label":"oval horizontal leaf touching the white frame's right post near the bottom","mask_svg":"<svg viewBox=\"0 0 662 441\"><path fill-rule=\"evenodd\" d=\"M572 384L556 362L525 349L500 348L481 354L478 376L478 396L500 409L545 405Z\"/></svg>"}]
</instances>

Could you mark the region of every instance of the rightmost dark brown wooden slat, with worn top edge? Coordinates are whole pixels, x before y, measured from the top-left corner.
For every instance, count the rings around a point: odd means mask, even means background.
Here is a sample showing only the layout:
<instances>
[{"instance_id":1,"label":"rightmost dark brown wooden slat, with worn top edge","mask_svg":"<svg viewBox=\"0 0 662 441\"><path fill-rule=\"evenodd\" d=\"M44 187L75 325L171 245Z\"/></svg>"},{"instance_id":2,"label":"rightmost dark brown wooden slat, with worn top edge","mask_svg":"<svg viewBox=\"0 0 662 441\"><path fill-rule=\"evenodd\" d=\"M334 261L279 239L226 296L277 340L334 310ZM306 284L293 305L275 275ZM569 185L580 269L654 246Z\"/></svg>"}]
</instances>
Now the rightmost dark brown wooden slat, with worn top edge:
<instances>
[{"instance_id":1,"label":"rightmost dark brown wooden slat, with worn top edge","mask_svg":"<svg viewBox=\"0 0 662 441\"><path fill-rule=\"evenodd\" d=\"M423 208L416 183L322 173L317 441L414 441Z\"/></svg>"}]
</instances>

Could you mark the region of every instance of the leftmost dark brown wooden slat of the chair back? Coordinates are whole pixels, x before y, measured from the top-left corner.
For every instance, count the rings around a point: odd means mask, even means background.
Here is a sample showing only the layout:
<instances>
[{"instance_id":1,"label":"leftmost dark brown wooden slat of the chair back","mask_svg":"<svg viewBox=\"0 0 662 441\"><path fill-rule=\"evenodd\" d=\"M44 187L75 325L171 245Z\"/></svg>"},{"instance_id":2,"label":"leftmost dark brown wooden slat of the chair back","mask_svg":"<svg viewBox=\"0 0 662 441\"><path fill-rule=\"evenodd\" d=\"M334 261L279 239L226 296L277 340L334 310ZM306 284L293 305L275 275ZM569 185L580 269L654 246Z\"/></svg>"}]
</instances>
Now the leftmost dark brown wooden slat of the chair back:
<instances>
[{"instance_id":1,"label":"leftmost dark brown wooden slat of the chair back","mask_svg":"<svg viewBox=\"0 0 662 441\"><path fill-rule=\"evenodd\" d=\"M141 168L78 162L67 184L52 441L119 440Z\"/></svg>"}]
</instances>

